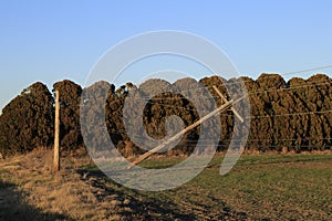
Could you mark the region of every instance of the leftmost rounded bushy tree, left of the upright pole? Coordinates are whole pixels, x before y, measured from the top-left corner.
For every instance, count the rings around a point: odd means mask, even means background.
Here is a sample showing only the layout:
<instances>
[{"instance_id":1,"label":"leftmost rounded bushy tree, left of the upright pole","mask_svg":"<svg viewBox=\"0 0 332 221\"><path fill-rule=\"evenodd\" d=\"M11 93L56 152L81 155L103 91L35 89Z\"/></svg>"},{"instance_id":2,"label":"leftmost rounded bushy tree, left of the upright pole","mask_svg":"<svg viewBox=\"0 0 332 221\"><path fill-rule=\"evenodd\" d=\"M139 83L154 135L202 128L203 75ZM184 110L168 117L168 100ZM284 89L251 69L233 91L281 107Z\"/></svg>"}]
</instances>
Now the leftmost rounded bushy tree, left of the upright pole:
<instances>
[{"instance_id":1,"label":"leftmost rounded bushy tree, left of the upright pole","mask_svg":"<svg viewBox=\"0 0 332 221\"><path fill-rule=\"evenodd\" d=\"M0 151L10 156L38 146L50 146L53 133L53 97L48 87L35 83L23 90L0 117Z\"/></svg>"}]
</instances>

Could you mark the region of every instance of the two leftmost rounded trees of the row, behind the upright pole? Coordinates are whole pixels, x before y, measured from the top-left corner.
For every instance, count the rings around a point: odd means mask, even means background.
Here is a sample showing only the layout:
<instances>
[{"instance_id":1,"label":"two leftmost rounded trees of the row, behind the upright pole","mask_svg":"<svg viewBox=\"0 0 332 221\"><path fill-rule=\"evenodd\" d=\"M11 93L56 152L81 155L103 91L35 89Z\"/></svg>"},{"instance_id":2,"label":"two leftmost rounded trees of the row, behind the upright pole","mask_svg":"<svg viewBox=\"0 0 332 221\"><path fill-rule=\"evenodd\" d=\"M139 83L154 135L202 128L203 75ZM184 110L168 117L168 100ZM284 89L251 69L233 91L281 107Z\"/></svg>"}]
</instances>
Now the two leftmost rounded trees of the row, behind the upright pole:
<instances>
[{"instance_id":1,"label":"two leftmost rounded trees of the row, behind the upright pole","mask_svg":"<svg viewBox=\"0 0 332 221\"><path fill-rule=\"evenodd\" d=\"M58 82L61 101L61 148L83 145L80 129L82 88L71 81ZM22 91L0 116L0 154L2 157L22 154L37 147L51 147L54 141L54 96L38 82Z\"/></svg>"}]
</instances>

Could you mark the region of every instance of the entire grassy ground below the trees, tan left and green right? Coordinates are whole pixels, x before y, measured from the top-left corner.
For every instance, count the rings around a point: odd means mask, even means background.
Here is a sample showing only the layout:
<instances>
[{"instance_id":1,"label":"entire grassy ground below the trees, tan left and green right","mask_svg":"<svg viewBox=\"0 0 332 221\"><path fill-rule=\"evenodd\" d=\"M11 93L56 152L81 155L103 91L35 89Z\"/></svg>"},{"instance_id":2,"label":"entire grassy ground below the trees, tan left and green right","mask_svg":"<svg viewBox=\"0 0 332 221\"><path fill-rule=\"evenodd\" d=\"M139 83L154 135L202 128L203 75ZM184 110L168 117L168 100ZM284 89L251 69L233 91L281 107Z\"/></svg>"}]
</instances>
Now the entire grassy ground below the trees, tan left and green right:
<instances>
[{"instance_id":1,"label":"entire grassy ground below the trees, tan left and green right","mask_svg":"<svg viewBox=\"0 0 332 221\"><path fill-rule=\"evenodd\" d=\"M53 172L53 152L39 149L0 160L0 220L329 220L332 158L325 154L245 155L224 177L218 155L179 188L142 192L107 179L84 151L66 154ZM156 157L143 166L181 159Z\"/></svg>"}]
</instances>

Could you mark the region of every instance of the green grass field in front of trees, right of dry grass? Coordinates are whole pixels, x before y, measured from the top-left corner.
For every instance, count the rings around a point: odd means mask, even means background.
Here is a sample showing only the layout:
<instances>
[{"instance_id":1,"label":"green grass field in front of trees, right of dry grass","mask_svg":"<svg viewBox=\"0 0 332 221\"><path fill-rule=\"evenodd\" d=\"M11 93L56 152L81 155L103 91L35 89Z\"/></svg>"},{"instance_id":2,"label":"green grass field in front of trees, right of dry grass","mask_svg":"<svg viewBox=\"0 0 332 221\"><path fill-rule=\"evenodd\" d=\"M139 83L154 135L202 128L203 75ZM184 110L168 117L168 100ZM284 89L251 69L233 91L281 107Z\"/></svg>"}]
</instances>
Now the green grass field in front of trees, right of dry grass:
<instances>
[{"instance_id":1,"label":"green grass field in front of trees, right of dry grass","mask_svg":"<svg viewBox=\"0 0 332 221\"><path fill-rule=\"evenodd\" d=\"M179 160L151 159L142 166L160 168ZM215 157L194 180L172 190L144 192L106 183L190 219L220 220L232 213L243 220L332 220L331 155L242 156L225 176L219 175L221 160Z\"/></svg>"}]
</instances>

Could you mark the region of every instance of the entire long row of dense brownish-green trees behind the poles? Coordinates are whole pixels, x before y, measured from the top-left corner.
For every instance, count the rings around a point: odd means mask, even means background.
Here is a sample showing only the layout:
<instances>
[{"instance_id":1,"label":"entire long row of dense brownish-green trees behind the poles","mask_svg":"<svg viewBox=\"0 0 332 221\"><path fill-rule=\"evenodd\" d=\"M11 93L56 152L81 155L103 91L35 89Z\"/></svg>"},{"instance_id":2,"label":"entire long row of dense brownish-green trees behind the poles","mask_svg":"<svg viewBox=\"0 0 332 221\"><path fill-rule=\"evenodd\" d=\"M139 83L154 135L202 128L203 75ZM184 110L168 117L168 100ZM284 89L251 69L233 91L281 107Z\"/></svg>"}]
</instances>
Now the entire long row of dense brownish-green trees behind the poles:
<instances>
[{"instance_id":1,"label":"entire long row of dense brownish-green trees behind the poles","mask_svg":"<svg viewBox=\"0 0 332 221\"><path fill-rule=\"evenodd\" d=\"M249 77L241 77L241 81L248 91L251 107L251 113L243 116L250 120L247 149L331 149L332 80L329 76L317 74L308 80L293 77L286 82L278 74L262 74L256 81ZM221 105L212 90L214 85L229 96L230 91L240 94L238 82L236 78L224 80L218 76L205 77L199 82L183 78L174 84L148 80L139 86L127 83L118 88L107 82L97 82L85 90L68 80L58 82L53 85L53 92L60 91L61 148L73 150L84 146L81 106L86 119L95 122L93 129L106 127L106 131L101 129L98 136L90 134L91 128L85 129L84 137L91 139L90 145L107 148L104 143L111 138L123 155L142 154L145 150L141 147L153 147L148 144L152 139L155 141L153 145L158 144L159 139L177 133L176 128L186 127L198 120L201 113L212 110L216 107L214 104ZM208 97L207 92L216 103L204 98ZM128 119L127 116L134 117ZM227 110L218 117L221 122L220 131L216 130L220 134L218 149L225 150L234 133L234 113ZM86 126L84 119L81 123ZM203 136L200 129L205 126L215 129L215 123L212 119L193 129L168 154L189 154ZM0 152L7 157L40 146L52 147L53 128L54 96L44 84L34 83L2 109ZM126 133L128 129L135 130L135 134ZM151 138L149 141L139 140L144 134Z\"/></svg>"}]
</instances>

